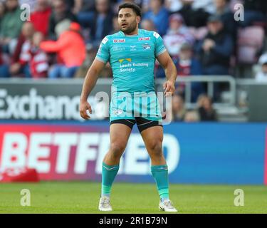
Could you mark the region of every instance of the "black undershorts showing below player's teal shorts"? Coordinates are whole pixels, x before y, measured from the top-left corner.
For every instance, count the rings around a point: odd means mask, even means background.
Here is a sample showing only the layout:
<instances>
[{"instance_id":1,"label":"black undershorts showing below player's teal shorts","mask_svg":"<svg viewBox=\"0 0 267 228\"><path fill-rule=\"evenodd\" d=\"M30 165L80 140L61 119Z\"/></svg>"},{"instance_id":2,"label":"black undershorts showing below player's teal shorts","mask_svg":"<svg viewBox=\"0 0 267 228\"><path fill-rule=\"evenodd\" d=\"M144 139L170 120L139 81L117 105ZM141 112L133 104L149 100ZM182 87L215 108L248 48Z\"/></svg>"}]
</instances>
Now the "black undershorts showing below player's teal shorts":
<instances>
[{"instance_id":1,"label":"black undershorts showing below player's teal shorts","mask_svg":"<svg viewBox=\"0 0 267 228\"><path fill-rule=\"evenodd\" d=\"M124 125L127 125L129 128L132 129L132 127L137 124L137 128L139 132L141 133L143 130L146 130L147 128L155 127L155 126L161 126L162 122L155 121L155 120L147 120L142 117L136 117L135 120L132 119L120 119L120 120L112 120L110 122L110 125L113 123L122 123Z\"/></svg>"}]
</instances>

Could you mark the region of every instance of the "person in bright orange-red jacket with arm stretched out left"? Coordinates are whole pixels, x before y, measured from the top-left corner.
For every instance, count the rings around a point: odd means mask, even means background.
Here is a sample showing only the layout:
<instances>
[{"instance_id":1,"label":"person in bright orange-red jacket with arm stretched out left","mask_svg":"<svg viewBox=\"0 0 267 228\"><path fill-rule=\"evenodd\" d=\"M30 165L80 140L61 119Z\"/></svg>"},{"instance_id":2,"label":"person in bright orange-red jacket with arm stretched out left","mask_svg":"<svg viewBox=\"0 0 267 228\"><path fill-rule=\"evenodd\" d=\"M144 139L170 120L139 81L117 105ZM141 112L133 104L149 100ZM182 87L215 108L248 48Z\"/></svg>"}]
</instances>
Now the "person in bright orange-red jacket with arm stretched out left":
<instances>
[{"instance_id":1,"label":"person in bright orange-red jacket with arm stretched out left","mask_svg":"<svg viewBox=\"0 0 267 228\"><path fill-rule=\"evenodd\" d=\"M85 60L85 42L80 35L80 25L70 23L68 31L63 31L57 41L43 41L41 49L58 54L62 63L53 65L48 78L72 78Z\"/></svg>"}]
</instances>

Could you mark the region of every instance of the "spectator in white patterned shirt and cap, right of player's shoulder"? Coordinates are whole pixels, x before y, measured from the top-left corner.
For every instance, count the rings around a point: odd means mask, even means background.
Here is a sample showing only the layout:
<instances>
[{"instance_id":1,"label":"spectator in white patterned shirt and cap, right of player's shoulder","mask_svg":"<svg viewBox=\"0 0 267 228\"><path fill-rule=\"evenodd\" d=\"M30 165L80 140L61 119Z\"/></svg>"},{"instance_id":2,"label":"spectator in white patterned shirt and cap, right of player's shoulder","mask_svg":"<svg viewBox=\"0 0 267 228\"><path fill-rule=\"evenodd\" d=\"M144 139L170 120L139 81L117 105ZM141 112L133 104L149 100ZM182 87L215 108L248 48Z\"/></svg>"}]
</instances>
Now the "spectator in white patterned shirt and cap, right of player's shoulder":
<instances>
[{"instance_id":1,"label":"spectator in white patterned shirt and cap, right of player's shoulder","mask_svg":"<svg viewBox=\"0 0 267 228\"><path fill-rule=\"evenodd\" d=\"M180 14L172 14L169 17L169 29L163 40L172 57L179 55L182 43L194 43L194 37L187 27L184 26L184 19Z\"/></svg>"}]
</instances>

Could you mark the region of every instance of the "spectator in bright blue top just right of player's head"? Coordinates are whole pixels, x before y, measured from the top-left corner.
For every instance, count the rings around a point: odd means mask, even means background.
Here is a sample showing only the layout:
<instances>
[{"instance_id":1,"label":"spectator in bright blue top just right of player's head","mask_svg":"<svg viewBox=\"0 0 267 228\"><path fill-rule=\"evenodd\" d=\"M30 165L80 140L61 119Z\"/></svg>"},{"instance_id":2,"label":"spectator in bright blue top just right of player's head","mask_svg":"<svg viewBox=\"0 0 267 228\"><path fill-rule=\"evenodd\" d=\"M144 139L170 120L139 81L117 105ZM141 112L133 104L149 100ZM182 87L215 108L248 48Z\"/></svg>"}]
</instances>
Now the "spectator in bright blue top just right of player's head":
<instances>
[{"instance_id":1,"label":"spectator in bright blue top just right of player's head","mask_svg":"<svg viewBox=\"0 0 267 228\"><path fill-rule=\"evenodd\" d=\"M163 6L164 0L150 0L150 11L144 14L143 19L154 22L159 35L166 34L169 27L169 12Z\"/></svg>"}]
</instances>

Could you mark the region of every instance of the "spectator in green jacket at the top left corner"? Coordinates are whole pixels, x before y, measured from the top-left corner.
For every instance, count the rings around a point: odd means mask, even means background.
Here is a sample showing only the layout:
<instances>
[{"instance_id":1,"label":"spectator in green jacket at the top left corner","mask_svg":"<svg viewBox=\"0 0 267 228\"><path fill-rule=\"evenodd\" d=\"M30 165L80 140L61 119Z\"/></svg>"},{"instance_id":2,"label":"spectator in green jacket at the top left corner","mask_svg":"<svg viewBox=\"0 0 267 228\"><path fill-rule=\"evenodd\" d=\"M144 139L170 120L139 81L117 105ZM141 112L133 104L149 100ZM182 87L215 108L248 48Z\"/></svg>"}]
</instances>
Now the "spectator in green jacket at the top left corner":
<instances>
[{"instance_id":1,"label":"spectator in green jacket at the top left corner","mask_svg":"<svg viewBox=\"0 0 267 228\"><path fill-rule=\"evenodd\" d=\"M23 21L18 0L6 0L6 13L1 19L0 45L6 53L13 53Z\"/></svg>"}]
</instances>

